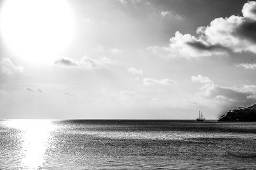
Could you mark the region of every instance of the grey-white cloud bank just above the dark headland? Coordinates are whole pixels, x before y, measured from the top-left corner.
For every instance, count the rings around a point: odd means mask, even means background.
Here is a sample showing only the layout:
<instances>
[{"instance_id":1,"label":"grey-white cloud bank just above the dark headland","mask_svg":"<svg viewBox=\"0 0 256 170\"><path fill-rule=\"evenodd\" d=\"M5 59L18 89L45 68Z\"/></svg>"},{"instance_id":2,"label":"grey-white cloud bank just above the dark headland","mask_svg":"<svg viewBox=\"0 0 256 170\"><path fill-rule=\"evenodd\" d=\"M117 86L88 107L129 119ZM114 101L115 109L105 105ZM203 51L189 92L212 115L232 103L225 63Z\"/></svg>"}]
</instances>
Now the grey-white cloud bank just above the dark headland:
<instances>
[{"instance_id":1,"label":"grey-white cloud bank just above the dark headland","mask_svg":"<svg viewBox=\"0 0 256 170\"><path fill-rule=\"evenodd\" d=\"M206 76L191 76L192 81L202 83L200 91L197 96L205 99L213 99L213 101L220 103L224 108L228 106L248 106L256 102L256 85L235 85L232 87L222 87L216 85L210 78ZM226 105L226 106L225 106Z\"/></svg>"}]
</instances>

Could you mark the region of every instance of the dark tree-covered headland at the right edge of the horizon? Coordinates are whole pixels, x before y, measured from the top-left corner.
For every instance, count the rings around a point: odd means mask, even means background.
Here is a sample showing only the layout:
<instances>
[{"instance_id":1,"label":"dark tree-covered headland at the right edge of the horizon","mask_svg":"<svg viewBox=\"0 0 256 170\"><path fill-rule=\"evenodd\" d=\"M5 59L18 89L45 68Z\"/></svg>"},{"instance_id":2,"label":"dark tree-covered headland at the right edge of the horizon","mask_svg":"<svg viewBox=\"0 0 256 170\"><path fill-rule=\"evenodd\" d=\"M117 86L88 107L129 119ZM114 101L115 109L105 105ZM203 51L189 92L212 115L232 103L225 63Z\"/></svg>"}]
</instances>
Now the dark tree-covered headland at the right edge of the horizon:
<instances>
[{"instance_id":1,"label":"dark tree-covered headland at the right edge of the horizon","mask_svg":"<svg viewBox=\"0 0 256 170\"><path fill-rule=\"evenodd\" d=\"M228 111L219 119L220 122L256 122L256 104L248 108L239 107Z\"/></svg>"}]
</instances>

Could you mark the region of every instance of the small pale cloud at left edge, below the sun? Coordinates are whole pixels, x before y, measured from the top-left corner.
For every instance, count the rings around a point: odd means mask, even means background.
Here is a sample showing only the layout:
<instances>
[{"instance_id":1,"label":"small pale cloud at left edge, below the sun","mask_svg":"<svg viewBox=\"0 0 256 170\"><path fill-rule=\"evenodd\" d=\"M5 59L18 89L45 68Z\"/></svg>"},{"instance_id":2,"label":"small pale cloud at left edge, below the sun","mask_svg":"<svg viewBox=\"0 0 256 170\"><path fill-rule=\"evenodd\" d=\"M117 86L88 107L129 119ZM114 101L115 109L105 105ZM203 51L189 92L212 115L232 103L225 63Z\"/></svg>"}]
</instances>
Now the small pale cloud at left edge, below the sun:
<instances>
[{"instance_id":1,"label":"small pale cloud at left edge, below the sun","mask_svg":"<svg viewBox=\"0 0 256 170\"><path fill-rule=\"evenodd\" d=\"M22 73L23 67L14 66L12 61L8 58L2 58L0 60L0 73L1 74L14 74L14 73Z\"/></svg>"}]
</instances>

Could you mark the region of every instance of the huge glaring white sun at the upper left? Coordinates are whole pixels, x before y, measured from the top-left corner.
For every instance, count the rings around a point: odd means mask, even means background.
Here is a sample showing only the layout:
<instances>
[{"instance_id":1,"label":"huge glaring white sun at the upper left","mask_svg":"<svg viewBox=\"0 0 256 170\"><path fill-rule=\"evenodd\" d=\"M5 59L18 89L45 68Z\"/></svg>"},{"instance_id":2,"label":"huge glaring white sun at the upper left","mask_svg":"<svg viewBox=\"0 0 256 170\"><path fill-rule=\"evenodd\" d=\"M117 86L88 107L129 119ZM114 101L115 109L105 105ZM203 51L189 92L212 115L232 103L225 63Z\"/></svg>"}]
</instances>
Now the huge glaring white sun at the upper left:
<instances>
[{"instance_id":1,"label":"huge glaring white sun at the upper left","mask_svg":"<svg viewBox=\"0 0 256 170\"><path fill-rule=\"evenodd\" d=\"M74 15L65 0L8 0L0 13L1 36L24 60L48 60L74 36Z\"/></svg>"}]
</instances>

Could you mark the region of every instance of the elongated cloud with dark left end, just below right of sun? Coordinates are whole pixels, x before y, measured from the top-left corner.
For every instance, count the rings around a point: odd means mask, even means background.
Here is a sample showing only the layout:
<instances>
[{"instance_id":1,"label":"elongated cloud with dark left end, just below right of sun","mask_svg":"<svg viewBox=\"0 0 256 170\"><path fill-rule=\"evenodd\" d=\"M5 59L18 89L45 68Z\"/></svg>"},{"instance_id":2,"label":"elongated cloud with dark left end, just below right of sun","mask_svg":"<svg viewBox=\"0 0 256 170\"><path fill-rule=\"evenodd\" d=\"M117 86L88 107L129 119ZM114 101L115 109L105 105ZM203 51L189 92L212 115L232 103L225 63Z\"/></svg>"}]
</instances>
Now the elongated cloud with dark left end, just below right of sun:
<instances>
[{"instance_id":1,"label":"elongated cloud with dark left end, just below right of sun","mask_svg":"<svg viewBox=\"0 0 256 170\"><path fill-rule=\"evenodd\" d=\"M116 64L116 60L111 60L107 57L102 57L101 59L92 59L90 57L84 56L80 60L73 60L70 58L60 58L54 61L54 64L61 66L76 66L83 69L100 69L102 67Z\"/></svg>"}]
</instances>

